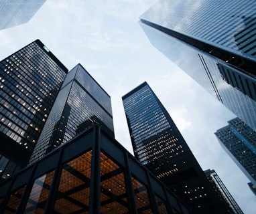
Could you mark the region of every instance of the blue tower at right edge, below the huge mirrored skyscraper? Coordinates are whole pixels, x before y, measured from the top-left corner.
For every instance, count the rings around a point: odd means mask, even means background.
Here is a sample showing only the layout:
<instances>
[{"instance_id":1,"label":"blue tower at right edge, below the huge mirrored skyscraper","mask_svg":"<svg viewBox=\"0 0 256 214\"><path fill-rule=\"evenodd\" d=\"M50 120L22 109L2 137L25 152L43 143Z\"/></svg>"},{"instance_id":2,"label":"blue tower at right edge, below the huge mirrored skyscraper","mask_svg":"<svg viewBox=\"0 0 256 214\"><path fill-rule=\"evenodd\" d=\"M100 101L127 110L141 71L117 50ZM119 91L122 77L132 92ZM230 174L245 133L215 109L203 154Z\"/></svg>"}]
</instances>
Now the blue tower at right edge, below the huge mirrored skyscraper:
<instances>
[{"instance_id":1,"label":"blue tower at right edge, below the huge mirrored skyscraper","mask_svg":"<svg viewBox=\"0 0 256 214\"><path fill-rule=\"evenodd\" d=\"M215 135L222 148L256 186L256 132L239 118L234 118Z\"/></svg>"}]
</instances>

